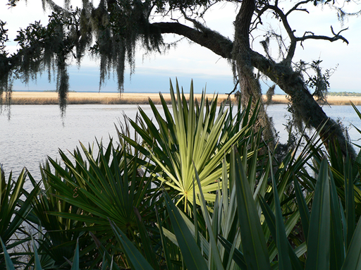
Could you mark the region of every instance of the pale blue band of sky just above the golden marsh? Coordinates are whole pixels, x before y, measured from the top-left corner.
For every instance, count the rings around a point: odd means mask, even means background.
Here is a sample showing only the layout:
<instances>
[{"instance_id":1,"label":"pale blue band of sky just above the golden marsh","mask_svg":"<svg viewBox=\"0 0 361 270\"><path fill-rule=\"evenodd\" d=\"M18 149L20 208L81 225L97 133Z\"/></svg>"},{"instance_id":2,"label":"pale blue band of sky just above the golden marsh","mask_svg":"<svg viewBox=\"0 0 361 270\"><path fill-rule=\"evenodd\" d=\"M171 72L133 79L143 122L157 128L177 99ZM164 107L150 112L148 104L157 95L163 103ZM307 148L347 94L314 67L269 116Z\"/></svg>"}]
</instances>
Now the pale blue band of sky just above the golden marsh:
<instances>
[{"instance_id":1,"label":"pale blue band of sky just above the golden marsh","mask_svg":"<svg viewBox=\"0 0 361 270\"><path fill-rule=\"evenodd\" d=\"M92 66L85 66L80 69L76 66L69 68L70 77L70 90L76 92L98 92L99 91L99 68ZM135 70L135 74L129 77L126 74L124 83L125 92L168 92L169 80L173 85L176 83L176 79L180 86L183 87L185 92L189 92L190 80L193 80L195 92L202 92L206 88L207 93L217 92L224 94L233 90L233 77L232 75L219 75L212 77L205 77L202 73L192 73L177 75L171 71L164 73L149 73L147 70L142 72L142 68ZM37 82L30 82L29 85L25 85L20 81L15 82L13 89L20 91L44 91L55 90L56 84L54 82L49 83L47 80L47 74L43 74L37 78ZM106 84L102 86L101 92L116 92L116 81L111 77L106 81Z\"/></svg>"}]
</instances>

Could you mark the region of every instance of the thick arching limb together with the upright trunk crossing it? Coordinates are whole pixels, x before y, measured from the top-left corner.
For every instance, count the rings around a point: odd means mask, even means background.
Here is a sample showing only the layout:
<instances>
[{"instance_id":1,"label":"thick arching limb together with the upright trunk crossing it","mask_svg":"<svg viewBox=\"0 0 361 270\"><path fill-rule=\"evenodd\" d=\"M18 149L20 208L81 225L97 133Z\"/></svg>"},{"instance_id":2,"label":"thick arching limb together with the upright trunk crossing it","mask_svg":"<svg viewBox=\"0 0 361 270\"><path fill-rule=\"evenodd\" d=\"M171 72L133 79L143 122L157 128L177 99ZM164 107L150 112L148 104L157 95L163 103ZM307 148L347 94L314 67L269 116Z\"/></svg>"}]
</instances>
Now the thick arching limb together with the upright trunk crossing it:
<instances>
[{"instance_id":1,"label":"thick arching limb together with the upright trunk crossing it","mask_svg":"<svg viewBox=\"0 0 361 270\"><path fill-rule=\"evenodd\" d=\"M275 63L262 54L250 49L249 22L254 4L255 2L253 0L243 1L241 10L235 20L234 42L231 42L231 40L212 30L202 32L195 28L182 25L181 23L153 23L152 27L157 27L157 30L161 33L174 33L188 37L192 42L210 49L219 56L235 60L237 63L237 71L240 75L239 80L242 87L243 106L247 104L251 96L254 102L262 97L259 82L257 82L253 73L253 68L257 68L264 73L264 75L267 75L270 80L279 85L283 92L290 96L295 113L300 116L303 123L307 123L307 125L312 128L319 128L326 123L324 130L320 133L326 147L329 148L331 142L338 141L343 155L355 157L353 146L345 139L341 126L326 116L322 107L317 104L312 94L310 94L310 91L307 90L300 73L296 73L293 70L290 62L283 61L281 63ZM245 17L243 17L243 15L245 15ZM244 22L246 22L245 25L243 25ZM222 44L222 46L220 46L220 44ZM255 106L255 104L253 105ZM268 134L264 135L265 138L273 136L273 126L264 111L264 106L262 106L260 111L259 124L267 127L266 133Z\"/></svg>"}]
</instances>

